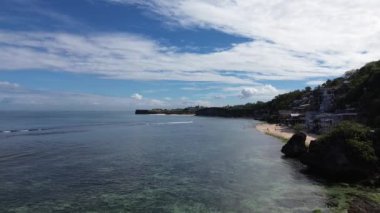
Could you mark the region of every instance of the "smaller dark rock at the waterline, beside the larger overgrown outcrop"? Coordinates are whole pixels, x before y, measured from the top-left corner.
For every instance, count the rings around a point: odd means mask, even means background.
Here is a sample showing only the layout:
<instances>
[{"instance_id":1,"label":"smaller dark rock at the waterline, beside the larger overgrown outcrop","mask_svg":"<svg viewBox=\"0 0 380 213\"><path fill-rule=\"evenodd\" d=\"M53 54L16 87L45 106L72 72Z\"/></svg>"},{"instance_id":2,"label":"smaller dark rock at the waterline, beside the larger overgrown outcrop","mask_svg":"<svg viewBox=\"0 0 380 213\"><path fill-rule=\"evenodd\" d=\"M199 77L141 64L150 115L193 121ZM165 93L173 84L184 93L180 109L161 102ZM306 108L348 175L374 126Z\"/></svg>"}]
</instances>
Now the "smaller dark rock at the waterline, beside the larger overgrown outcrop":
<instances>
[{"instance_id":1,"label":"smaller dark rock at the waterline, beside the larger overgrown outcrop","mask_svg":"<svg viewBox=\"0 0 380 213\"><path fill-rule=\"evenodd\" d=\"M289 141L282 147L281 152L286 157L297 158L305 154L307 149L305 146L306 134L299 132L294 134Z\"/></svg>"}]
</instances>

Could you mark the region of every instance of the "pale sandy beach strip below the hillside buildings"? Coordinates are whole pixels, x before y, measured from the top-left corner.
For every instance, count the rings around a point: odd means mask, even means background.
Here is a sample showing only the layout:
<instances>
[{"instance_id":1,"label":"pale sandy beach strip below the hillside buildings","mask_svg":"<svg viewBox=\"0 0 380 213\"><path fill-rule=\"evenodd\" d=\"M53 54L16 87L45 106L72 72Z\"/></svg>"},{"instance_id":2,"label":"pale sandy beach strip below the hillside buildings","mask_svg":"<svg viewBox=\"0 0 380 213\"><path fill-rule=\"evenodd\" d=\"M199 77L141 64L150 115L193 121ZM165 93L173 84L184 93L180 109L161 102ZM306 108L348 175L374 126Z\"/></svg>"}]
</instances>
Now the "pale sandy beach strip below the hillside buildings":
<instances>
[{"instance_id":1,"label":"pale sandy beach strip below the hillside buildings","mask_svg":"<svg viewBox=\"0 0 380 213\"><path fill-rule=\"evenodd\" d=\"M256 125L256 129L262 133L272 135L279 138L290 139L294 134L294 130L286 126L280 126L278 124L261 123ZM310 141L315 140L317 135L307 134L305 144L309 146Z\"/></svg>"}]
</instances>

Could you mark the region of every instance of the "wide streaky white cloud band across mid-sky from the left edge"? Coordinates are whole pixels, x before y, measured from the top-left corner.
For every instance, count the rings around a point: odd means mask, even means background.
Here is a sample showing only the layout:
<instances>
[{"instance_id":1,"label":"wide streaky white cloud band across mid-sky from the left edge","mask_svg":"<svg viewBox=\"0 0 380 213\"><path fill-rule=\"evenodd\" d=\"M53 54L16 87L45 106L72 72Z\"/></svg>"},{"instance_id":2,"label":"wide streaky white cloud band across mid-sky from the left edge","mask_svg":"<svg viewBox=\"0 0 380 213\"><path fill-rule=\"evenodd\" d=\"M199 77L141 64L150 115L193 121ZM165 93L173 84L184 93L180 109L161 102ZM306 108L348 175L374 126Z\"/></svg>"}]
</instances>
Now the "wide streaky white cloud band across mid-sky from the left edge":
<instances>
[{"instance_id":1,"label":"wide streaky white cloud band across mid-sky from the left edge","mask_svg":"<svg viewBox=\"0 0 380 213\"><path fill-rule=\"evenodd\" d=\"M213 63L224 57L218 56L220 53L177 53L173 47L131 34L0 31L0 50L0 70L61 70L134 80L252 82L221 74L225 68Z\"/></svg>"}]
</instances>

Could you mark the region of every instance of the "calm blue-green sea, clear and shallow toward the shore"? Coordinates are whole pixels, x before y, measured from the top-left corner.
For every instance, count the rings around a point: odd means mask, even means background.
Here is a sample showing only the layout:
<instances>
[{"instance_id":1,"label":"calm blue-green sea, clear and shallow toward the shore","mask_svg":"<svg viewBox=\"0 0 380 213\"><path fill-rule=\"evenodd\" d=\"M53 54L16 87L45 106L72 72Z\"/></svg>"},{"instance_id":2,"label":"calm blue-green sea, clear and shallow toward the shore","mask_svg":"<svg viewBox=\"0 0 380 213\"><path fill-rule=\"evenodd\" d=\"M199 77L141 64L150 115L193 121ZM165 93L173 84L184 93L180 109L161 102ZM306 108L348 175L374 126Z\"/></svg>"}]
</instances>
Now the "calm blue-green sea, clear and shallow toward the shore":
<instances>
[{"instance_id":1,"label":"calm blue-green sea, clear and shallow toward the shore","mask_svg":"<svg viewBox=\"0 0 380 213\"><path fill-rule=\"evenodd\" d=\"M1 112L0 212L311 212L323 184L254 120Z\"/></svg>"}]
</instances>

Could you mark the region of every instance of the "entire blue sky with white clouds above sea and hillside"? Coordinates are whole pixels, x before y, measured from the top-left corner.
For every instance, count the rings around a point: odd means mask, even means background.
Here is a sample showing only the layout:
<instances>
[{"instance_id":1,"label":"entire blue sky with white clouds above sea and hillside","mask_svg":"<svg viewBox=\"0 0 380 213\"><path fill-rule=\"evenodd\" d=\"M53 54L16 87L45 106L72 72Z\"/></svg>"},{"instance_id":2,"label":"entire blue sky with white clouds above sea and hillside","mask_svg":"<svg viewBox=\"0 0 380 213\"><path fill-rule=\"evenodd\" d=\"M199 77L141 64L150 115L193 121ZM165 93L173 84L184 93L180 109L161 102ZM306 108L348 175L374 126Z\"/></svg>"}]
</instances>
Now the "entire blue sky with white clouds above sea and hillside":
<instances>
[{"instance_id":1,"label":"entire blue sky with white clouds above sea and hillside","mask_svg":"<svg viewBox=\"0 0 380 213\"><path fill-rule=\"evenodd\" d=\"M378 0L0 0L0 110L267 101L380 59Z\"/></svg>"}]
</instances>

